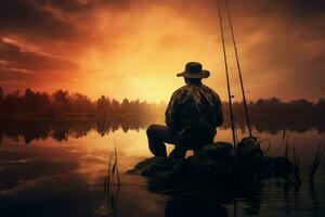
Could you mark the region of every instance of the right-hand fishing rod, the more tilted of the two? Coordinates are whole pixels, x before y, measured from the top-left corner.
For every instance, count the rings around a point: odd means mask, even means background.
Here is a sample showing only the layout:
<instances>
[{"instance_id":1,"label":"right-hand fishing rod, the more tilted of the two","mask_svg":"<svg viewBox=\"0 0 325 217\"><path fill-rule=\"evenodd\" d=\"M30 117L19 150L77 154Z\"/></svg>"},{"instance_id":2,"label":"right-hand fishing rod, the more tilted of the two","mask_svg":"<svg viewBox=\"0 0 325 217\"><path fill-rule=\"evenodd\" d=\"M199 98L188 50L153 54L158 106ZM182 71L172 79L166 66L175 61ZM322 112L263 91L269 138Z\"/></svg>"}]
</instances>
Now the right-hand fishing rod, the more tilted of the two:
<instances>
[{"instance_id":1,"label":"right-hand fishing rod, the more tilted of the two","mask_svg":"<svg viewBox=\"0 0 325 217\"><path fill-rule=\"evenodd\" d=\"M236 56L236 63L237 63L237 69L238 69L238 77L239 77L239 81L240 81L243 102L244 102L245 114L246 114L247 128L248 128L249 137L251 137L250 119L249 119L249 114L248 114L248 108L247 108L247 101L246 101L246 95L245 95L245 89L244 89L242 69L240 69L240 64L239 64L239 59L238 59L237 44L236 44L235 34L234 34L234 28L233 28L233 22L232 22L232 17L231 17L231 13L230 13L229 2L227 2L227 0L224 0L224 1L225 1L226 12L227 12L227 20L229 20L230 27L231 27L233 46L234 46L234 50L235 50L235 56Z\"/></svg>"}]
</instances>

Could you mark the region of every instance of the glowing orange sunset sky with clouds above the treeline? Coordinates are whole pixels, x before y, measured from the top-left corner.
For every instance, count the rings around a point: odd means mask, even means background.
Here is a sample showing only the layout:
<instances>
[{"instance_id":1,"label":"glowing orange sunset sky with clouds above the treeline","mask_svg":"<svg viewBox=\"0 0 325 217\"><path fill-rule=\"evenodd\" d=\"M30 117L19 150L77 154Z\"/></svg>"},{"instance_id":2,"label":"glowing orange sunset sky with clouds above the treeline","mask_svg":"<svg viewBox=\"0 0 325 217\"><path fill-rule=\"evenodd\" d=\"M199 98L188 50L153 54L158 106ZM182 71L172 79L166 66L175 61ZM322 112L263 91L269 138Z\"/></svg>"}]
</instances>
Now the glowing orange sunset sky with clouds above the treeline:
<instances>
[{"instance_id":1,"label":"glowing orange sunset sky with clouds above the treeline","mask_svg":"<svg viewBox=\"0 0 325 217\"><path fill-rule=\"evenodd\" d=\"M324 3L230 3L249 100L325 97ZM197 61L211 72L205 82L226 100L216 7L216 0L1 2L0 86L168 101L183 85L176 73ZM225 34L233 91L242 100Z\"/></svg>"}]
</instances>

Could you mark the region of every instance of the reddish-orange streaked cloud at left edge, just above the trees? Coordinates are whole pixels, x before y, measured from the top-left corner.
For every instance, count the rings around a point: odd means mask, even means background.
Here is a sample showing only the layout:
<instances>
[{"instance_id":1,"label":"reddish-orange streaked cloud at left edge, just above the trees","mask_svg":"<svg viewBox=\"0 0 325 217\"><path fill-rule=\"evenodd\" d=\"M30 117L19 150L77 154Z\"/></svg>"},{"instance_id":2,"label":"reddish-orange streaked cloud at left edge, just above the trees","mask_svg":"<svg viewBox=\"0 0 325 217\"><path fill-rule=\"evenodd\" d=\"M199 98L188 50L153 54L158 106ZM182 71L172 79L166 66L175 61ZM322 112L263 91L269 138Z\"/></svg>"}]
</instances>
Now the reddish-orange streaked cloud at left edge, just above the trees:
<instances>
[{"instance_id":1,"label":"reddish-orange streaked cloud at left edge, just above the trees","mask_svg":"<svg viewBox=\"0 0 325 217\"><path fill-rule=\"evenodd\" d=\"M75 73L78 73L78 66L68 60L0 40L0 85L6 91L28 87L53 91L51 86L58 89L57 84L66 84Z\"/></svg>"}]
</instances>

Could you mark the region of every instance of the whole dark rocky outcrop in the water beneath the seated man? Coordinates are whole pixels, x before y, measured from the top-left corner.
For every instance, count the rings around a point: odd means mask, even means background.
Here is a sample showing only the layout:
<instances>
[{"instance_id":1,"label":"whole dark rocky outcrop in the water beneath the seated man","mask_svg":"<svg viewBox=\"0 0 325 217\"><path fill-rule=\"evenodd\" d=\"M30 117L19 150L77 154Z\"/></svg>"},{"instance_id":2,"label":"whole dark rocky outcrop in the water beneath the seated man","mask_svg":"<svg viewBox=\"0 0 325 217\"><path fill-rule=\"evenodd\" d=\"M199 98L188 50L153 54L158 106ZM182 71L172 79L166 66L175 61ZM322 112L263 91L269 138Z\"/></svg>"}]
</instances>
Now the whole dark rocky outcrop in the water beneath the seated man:
<instances>
[{"instance_id":1,"label":"whole dark rocky outcrop in the water beneath the seated man","mask_svg":"<svg viewBox=\"0 0 325 217\"><path fill-rule=\"evenodd\" d=\"M261 179L287 176L292 171L285 157L265 157L256 138L243 139L237 149L226 142L207 144L184 159L152 157L140 162L128 174L146 176L169 183L205 182L224 186L255 184Z\"/></svg>"}]
</instances>

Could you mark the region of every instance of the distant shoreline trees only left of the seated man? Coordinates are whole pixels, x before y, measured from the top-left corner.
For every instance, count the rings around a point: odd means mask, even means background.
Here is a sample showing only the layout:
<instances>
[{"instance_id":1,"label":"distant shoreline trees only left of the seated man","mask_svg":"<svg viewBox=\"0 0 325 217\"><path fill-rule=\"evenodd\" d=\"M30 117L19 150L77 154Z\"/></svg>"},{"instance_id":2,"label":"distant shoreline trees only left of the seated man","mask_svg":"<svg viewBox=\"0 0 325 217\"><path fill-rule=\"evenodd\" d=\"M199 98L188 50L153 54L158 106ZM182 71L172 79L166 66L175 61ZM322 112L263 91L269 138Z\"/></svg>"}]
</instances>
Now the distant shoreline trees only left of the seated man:
<instances>
[{"instance_id":1,"label":"distant shoreline trees only left of the seated man","mask_svg":"<svg viewBox=\"0 0 325 217\"><path fill-rule=\"evenodd\" d=\"M0 113L36 115L154 115L160 104L146 101L116 99L102 95L93 101L81 93L56 90L52 94L27 88L23 94L18 90L4 94L0 87Z\"/></svg>"}]
</instances>

